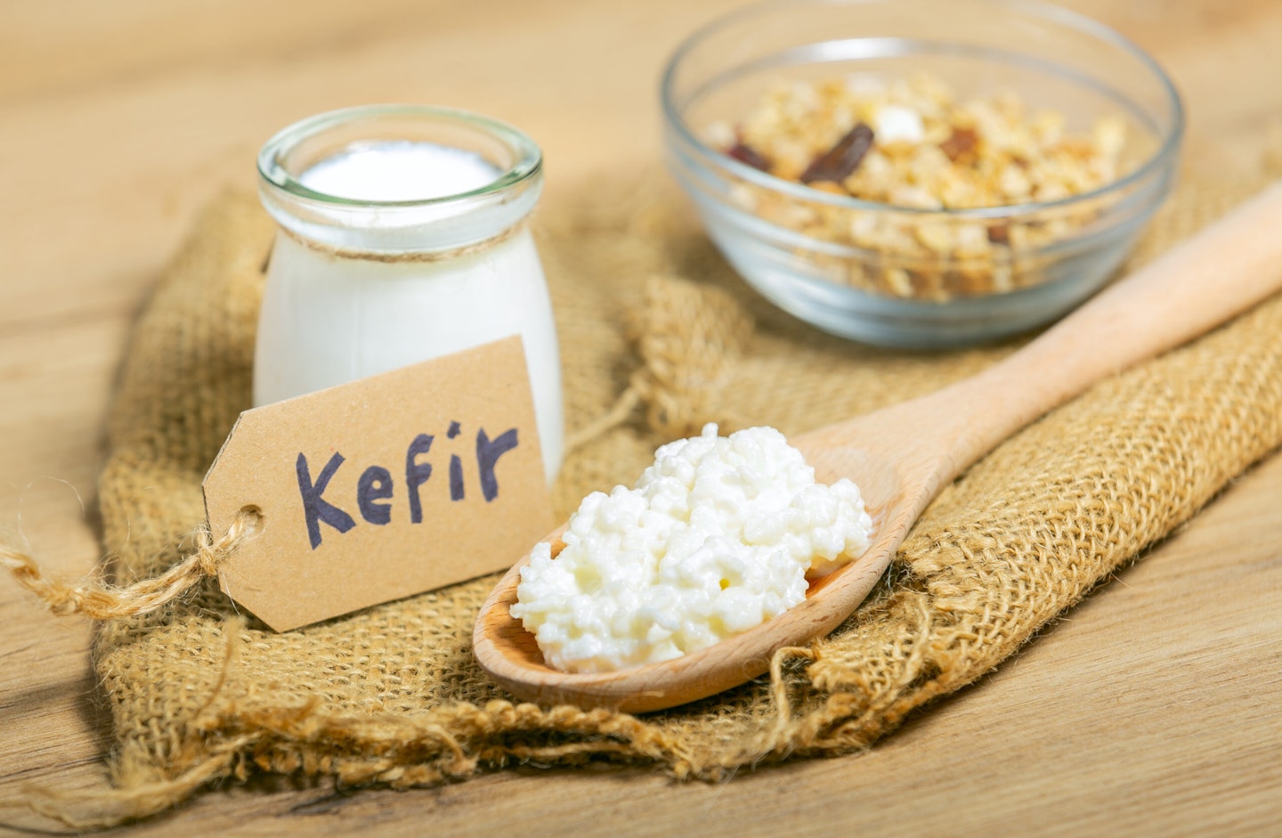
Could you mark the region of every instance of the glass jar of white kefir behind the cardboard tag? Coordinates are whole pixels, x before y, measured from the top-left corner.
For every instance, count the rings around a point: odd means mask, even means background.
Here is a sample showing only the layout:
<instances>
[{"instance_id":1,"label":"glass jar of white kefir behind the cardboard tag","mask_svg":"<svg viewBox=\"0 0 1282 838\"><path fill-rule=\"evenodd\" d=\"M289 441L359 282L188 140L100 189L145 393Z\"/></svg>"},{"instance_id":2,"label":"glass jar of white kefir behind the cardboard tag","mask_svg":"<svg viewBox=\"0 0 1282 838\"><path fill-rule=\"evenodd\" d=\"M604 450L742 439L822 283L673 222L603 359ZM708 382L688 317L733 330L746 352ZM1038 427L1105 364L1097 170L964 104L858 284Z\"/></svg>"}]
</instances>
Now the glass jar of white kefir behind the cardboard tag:
<instances>
[{"instance_id":1,"label":"glass jar of white kefir behind the cardboard tag","mask_svg":"<svg viewBox=\"0 0 1282 838\"><path fill-rule=\"evenodd\" d=\"M396 159L405 149L428 154ZM315 176L369 154L391 177L351 169L340 190ZM462 155L463 166L442 154ZM419 160L444 168L415 172ZM492 180L455 176L478 167ZM259 316L254 404L519 334L550 483L564 426L551 300L526 225L542 191L538 148L476 114L372 105L290 126L263 146L258 169L281 228ZM418 184L427 186L415 192Z\"/></svg>"}]
</instances>

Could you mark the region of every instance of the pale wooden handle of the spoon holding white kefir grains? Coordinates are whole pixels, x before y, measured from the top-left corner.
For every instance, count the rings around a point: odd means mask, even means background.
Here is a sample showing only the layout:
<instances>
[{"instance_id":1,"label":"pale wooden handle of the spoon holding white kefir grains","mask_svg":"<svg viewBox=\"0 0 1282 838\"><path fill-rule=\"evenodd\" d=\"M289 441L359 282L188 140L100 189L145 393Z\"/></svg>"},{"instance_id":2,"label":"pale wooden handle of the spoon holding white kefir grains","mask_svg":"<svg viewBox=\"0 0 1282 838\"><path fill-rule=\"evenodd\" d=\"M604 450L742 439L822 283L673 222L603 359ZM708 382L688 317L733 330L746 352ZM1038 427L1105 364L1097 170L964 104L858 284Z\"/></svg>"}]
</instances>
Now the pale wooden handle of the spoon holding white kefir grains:
<instances>
[{"instance_id":1,"label":"pale wooden handle of the spoon holding white kefir grains","mask_svg":"<svg viewBox=\"0 0 1282 838\"><path fill-rule=\"evenodd\" d=\"M1282 289L1282 182L1168 250L979 375L927 398L960 430L947 483L1091 384L1245 312ZM960 409L959 409L960 408Z\"/></svg>"}]
</instances>

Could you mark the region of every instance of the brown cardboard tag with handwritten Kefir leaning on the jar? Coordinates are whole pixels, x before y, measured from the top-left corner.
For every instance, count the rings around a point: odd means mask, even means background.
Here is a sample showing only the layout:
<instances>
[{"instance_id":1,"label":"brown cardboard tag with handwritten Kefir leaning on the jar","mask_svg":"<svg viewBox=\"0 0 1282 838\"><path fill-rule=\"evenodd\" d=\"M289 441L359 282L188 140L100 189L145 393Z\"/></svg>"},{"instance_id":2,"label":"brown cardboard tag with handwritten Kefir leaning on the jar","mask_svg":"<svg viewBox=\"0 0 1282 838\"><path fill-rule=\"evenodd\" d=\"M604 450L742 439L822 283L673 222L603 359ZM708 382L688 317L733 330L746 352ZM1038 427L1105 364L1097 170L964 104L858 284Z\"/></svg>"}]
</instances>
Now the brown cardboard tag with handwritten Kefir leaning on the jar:
<instances>
[{"instance_id":1,"label":"brown cardboard tag with handwritten Kefir leaning on the jar","mask_svg":"<svg viewBox=\"0 0 1282 838\"><path fill-rule=\"evenodd\" d=\"M204 490L262 515L219 581L277 631L506 569L553 529L520 338L245 411Z\"/></svg>"}]
</instances>

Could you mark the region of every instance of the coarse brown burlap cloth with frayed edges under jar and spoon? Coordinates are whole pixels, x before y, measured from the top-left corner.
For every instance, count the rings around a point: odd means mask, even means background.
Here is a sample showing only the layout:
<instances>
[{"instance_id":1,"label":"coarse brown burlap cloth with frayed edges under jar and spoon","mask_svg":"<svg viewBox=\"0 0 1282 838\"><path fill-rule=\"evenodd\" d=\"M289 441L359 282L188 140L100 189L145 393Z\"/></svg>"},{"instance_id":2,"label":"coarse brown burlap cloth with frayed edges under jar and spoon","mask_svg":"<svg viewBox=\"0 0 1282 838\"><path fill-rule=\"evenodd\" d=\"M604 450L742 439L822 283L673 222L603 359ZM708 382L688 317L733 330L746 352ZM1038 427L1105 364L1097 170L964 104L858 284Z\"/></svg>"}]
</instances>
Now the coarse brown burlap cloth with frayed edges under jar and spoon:
<instances>
[{"instance_id":1,"label":"coarse brown burlap cloth with frayed edges under jar and spoon","mask_svg":"<svg viewBox=\"0 0 1282 838\"><path fill-rule=\"evenodd\" d=\"M1260 185L1186 184L1135 258ZM1011 349L903 353L819 334L746 289L668 192L563 195L538 228L570 432L586 438L555 488L560 516L592 489L631 484L658 444L704 422L795 434L929 391ZM215 201L137 325L100 483L121 584L191 548L201 477L250 404L273 232L255 198ZM938 498L869 602L779 683L672 711L513 702L470 654L492 576L283 634L237 615L206 579L195 595L97 634L122 814L158 811L255 766L404 787L604 757L723 778L867 748L996 666L1282 441L1279 334L1273 299L1028 427Z\"/></svg>"}]
</instances>

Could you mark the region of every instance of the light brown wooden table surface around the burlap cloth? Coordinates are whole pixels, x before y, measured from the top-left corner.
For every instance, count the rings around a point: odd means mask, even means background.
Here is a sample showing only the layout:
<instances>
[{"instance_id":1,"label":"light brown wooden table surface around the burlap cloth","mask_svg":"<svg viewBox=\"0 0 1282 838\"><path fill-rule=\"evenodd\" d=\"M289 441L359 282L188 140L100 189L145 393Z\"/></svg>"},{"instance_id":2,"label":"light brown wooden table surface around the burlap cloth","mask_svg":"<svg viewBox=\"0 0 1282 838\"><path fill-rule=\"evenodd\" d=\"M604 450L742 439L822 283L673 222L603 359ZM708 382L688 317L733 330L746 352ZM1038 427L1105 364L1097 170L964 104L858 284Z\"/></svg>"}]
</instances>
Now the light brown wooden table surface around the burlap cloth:
<instances>
[{"instance_id":1,"label":"light brown wooden table surface around the burlap cloth","mask_svg":"<svg viewBox=\"0 0 1282 838\"><path fill-rule=\"evenodd\" d=\"M90 572L103 420L131 323L195 210L310 113L465 107L526 128L546 200L659 157L660 65L737 0L0 3L0 531ZM1204 173L1282 117L1282 1L1073 0L1150 50ZM1282 339L1282 338L1279 338ZM733 782L645 769L438 789L206 793L151 834L1282 834L1282 458L983 683L870 753ZM0 797L104 782L87 648L0 579ZM0 832L49 826L0 810ZM517 824L514 828L513 824Z\"/></svg>"}]
</instances>

